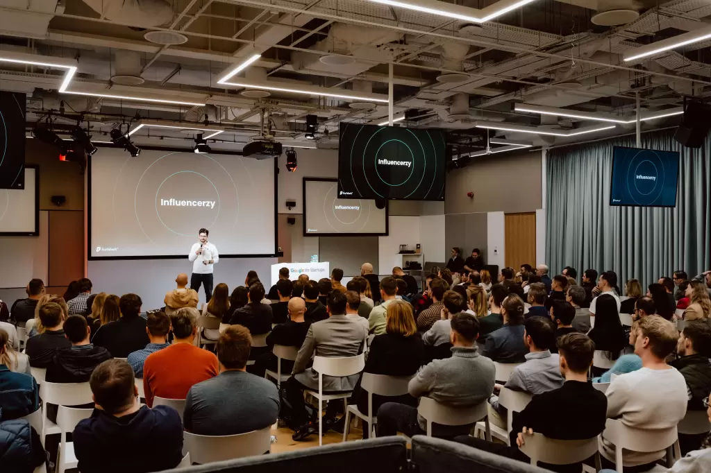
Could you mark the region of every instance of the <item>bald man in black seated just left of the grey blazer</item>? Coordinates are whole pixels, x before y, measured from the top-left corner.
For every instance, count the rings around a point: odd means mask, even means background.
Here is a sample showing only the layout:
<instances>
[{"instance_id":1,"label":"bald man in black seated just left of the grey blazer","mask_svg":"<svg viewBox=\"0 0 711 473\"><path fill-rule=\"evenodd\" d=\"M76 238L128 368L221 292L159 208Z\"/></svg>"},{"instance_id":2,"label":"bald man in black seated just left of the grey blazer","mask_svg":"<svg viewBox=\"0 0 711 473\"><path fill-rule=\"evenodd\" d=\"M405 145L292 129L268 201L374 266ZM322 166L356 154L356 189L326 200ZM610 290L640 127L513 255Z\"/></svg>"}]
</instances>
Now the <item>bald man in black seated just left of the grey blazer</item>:
<instances>
[{"instance_id":1,"label":"bald man in black seated just left of the grey blazer","mask_svg":"<svg viewBox=\"0 0 711 473\"><path fill-rule=\"evenodd\" d=\"M309 332L309 322L304 320L306 303L302 298L289 299L289 320L283 324L275 325L272 332L267 336L269 349L274 345L284 345L285 347L296 347L298 350L304 344L306 333ZM294 361L282 359L282 374L289 374L294 368ZM265 353L255 361L254 370L257 376L264 377L266 370L277 372L277 356L272 352Z\"/></svg>"}]
</instances>

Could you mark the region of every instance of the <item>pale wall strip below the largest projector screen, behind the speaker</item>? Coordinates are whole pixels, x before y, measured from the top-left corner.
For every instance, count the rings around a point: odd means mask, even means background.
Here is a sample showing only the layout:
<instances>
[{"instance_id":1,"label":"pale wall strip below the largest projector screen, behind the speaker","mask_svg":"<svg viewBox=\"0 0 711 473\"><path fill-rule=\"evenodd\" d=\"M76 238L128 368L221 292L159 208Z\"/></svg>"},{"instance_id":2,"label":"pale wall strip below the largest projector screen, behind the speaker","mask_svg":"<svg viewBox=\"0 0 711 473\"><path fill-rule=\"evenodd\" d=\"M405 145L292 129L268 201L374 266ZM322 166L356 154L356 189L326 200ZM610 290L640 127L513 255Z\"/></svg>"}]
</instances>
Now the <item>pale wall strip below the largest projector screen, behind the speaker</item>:
<instances>
[{"instance_id":1,"label":"pale wall strip below the largest projector screen, behind the speaker","mask_svg":"<svg viewBox=\"0 0 711 473\"><path fill-rule=\"evenodd\" d=\"M257 271L269 290L269 271L276 258L223 258L215 264L215 286L226 283L230 293L245 284L247 271ZM122 295L134 293L141 296L143 310L163 307L163 299L175 288L175 278L187 273L190 278L193 263L188 259L140 259L117 261L87 261L88 277L94 292L102 291ZM205 302L203 288L199 291L201 303Z\"/></svg>"}]
</instances>

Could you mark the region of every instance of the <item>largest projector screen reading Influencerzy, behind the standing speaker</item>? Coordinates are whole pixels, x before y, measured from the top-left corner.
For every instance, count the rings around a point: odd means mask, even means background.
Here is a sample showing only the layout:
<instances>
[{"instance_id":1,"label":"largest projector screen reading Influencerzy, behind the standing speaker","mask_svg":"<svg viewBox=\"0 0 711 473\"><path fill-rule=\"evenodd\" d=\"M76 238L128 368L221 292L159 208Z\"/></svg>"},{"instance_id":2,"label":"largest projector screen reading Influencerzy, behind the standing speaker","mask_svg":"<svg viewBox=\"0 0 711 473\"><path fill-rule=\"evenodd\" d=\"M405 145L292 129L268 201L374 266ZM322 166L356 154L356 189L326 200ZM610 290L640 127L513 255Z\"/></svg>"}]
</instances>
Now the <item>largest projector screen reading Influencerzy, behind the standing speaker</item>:
<instances>
[{"instance_id":1,"label":"largest projector screen reading Influencerzy, behind the standing speaker","mask_svg":"<svg viewBox=\"0 0 711 473\"><path fill-rule=\"evenodd\" d=\"M99 148L89 163L89 257L187 258L201 227L220 256L274 256L276 175L274 158Z\"/></svg>"}]
</instances>

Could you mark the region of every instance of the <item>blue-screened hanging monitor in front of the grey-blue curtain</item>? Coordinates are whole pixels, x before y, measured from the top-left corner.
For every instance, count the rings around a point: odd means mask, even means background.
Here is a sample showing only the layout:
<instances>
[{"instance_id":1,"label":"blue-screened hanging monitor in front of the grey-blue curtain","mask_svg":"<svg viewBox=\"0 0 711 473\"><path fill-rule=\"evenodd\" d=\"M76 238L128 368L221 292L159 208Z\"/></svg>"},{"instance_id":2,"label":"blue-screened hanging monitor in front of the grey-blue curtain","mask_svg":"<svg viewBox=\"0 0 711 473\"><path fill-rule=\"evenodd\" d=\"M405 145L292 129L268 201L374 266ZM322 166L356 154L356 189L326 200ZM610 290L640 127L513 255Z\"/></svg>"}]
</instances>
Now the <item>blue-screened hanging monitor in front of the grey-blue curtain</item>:
<instances>
[{"instance_id":1,"label":"blue-screened hanging monitor in front of the grey-blue curtain","mask_svg":"<svg viewBox=\"0 0 711 473\"><path fill-rule=\"evenodd\" d=\"M615 146L610 205L675 207L679 153Z\"/></svg>"}]
</instances>

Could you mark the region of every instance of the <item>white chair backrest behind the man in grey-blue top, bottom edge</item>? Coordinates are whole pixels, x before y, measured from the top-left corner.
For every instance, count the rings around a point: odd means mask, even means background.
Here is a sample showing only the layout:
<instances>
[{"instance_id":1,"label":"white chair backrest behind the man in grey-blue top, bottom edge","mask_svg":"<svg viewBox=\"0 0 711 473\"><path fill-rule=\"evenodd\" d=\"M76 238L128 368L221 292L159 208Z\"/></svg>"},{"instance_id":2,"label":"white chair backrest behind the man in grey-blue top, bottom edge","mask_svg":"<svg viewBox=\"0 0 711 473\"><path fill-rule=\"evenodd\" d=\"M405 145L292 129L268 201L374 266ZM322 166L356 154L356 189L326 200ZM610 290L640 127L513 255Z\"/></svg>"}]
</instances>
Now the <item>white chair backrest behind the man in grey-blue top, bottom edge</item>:
<instances>
[{"instance_id":1,"label":"white chair backrest behind the man in grey-blue top, bottom edge","mask_svg":"<svg viewBox=\"0 0 711 473\"><path fill-rule=\"evenodd\" d=\"M271 449L269 427L237 435L183 433L185 450L192 462L205 464L232 458L262 455Z\"/></svg>"}]
</instances>

